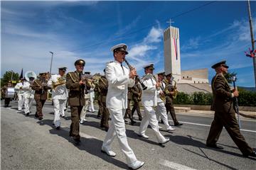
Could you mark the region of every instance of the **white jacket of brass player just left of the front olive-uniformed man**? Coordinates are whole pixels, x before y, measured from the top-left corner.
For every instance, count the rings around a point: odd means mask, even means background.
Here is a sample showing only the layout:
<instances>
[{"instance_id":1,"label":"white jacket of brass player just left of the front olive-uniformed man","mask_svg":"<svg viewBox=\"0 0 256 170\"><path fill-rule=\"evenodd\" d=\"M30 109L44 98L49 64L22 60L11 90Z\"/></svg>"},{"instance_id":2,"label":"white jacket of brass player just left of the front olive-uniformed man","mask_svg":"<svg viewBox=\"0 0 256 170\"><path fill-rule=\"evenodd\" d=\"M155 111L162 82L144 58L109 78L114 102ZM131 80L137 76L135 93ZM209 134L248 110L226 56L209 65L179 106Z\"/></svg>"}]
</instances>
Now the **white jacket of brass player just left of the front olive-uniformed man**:
<instances>
[{"instance_id":1,"label":"white jacket of brass player just left of the front olive-uniformed man","mask_svg":"<svg viewBox=\"0 0 256 170\"><path fill-rule=\"evenodd\" d=\"M52 75L47 83L47 86L53 88L53 83L56 83L59 77L61 77L59 74ZM53 89L52 98L66 100L68 98L67 94L67 88L65 84L62 84Z\"/></svg>"}]
</instances>

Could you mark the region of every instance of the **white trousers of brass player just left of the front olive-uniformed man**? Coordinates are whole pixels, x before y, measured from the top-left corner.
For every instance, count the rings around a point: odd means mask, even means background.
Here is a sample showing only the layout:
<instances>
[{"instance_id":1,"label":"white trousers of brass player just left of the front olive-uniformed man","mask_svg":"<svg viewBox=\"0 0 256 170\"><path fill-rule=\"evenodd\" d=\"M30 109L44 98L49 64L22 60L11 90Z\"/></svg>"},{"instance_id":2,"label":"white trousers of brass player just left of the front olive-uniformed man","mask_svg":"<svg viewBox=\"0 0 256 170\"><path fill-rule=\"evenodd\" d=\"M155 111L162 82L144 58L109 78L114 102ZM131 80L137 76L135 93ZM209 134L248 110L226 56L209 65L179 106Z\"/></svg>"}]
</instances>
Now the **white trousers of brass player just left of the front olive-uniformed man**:
<instances>
[{"instance_id":1,"label":"white trousers of brass player just left of the front olive-uniformed man","mask_svg":"<svg viewBox=\"0 0 256 170\"><path fill-rule=\"evenodd\" d=\"M54 109L54 120L53 123L57 128L60 126L60 115L64 113L65 99L53 99L53 109Z\"/></svg>"}]
</instances>

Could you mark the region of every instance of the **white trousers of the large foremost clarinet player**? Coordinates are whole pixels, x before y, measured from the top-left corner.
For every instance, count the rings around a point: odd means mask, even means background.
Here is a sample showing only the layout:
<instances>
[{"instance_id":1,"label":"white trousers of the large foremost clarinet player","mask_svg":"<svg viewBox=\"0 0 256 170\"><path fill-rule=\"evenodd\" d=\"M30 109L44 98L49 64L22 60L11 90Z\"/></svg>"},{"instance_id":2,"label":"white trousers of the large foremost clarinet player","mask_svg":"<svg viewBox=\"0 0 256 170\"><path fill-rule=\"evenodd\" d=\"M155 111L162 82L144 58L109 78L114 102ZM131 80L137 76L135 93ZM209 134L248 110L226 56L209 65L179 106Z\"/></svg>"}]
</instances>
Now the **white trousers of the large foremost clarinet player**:
<instances>
[{"instance_id":1,"label":"white trousers of the large foremost clarinet player","mask_svg":"<svg viewBox=\"0 0 256 170\"><path fill-rule=\"evenodd\" d=\"M114 137L117 136L119 147L122 152L124 152L127 164L137 161L134 152L128 145L127 135L125 133L124 113L126 109L108 108L108 110L110 111L111 123L102 147L111 150L110 145L113 142Z\"/></svg>"}]
</instances>

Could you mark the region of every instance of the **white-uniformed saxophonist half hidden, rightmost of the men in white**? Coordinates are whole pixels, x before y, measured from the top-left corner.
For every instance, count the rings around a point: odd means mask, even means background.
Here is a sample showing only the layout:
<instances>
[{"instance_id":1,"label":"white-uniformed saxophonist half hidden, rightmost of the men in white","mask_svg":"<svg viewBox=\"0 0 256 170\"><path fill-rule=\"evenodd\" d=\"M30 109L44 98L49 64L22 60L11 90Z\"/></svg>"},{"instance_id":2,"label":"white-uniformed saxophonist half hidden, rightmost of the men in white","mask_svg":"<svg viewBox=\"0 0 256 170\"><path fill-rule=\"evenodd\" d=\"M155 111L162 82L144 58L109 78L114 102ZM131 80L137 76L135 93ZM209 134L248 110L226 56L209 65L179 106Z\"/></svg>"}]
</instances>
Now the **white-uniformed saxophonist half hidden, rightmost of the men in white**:
<instances>
[{"instance_id":1,"label":"white-uniformed saxophonist half hidden, rightmost of the men in white","mask_svg":"<svg viewBox=\"0 0 256 170\"><path fill-rule=\"evenodd\" d=\"M175 128L171 128L171 125L169 125L168 116L166 114L167 113L166 107L164 105L165 103L165 94L164 94L165 84L163 82L164 73L165 72L157 73L157 81L160 83L160 87L157 88L157 92L156 92L157 94L156 120L159 120L159 118L161 118L161 120L163 120L164 122L164 125L166 126L166 130L173 131L175 130Z\"/></svg>"}]
</instances>

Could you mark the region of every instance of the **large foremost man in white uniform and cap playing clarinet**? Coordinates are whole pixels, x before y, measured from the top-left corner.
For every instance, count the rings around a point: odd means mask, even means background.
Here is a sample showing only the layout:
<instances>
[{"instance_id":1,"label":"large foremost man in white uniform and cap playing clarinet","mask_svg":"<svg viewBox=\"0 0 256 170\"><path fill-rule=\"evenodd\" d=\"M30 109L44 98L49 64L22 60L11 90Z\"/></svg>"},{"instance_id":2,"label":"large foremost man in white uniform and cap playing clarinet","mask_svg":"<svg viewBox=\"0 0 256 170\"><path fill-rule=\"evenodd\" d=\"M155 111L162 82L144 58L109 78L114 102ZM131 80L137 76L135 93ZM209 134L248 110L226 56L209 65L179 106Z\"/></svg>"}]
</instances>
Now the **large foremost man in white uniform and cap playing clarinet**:
<instances>
[{"instance_id":1,"label":"large foremost man in white uniform and cap playing clarinet","mask_svg":"<svg viewBox=\"0 0 256 170\"><path fill-rule=\"evenodd\" d=\"M144 165L135 157L134 152L129 147L127 135L125 133L124 113L127 108L127 91L128 86L134 86L134 77L137 75L136 69L129 71L122 65L127 52L127 45L119 44L111 48L114 55L114 62L106 65L106 77L108 81L107 91L107 108L110 111L111 123L107 135L102 144L102 152L110 157L115 157L111 149L114 137L117 136L119 147L127 159L127 165L131 169L139 169Z\"/></svg>"}]
</instances>

